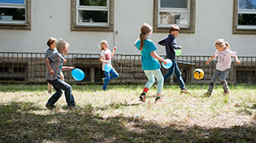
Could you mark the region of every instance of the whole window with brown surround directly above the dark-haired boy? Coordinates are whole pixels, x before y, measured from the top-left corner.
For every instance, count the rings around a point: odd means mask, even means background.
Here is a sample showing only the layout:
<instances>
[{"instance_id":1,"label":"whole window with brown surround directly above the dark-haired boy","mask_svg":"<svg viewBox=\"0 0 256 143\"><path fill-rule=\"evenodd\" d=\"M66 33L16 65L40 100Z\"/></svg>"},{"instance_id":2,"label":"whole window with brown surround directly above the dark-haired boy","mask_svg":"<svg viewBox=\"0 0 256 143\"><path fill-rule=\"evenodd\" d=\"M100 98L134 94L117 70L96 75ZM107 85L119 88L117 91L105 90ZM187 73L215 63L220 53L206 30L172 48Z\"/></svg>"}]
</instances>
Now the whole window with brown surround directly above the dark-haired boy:
<instances>
[{"instance_id":1,"label":"whole window with brown surround directly above the dark-haired boy","mask_svg":"<svg viewBox=\"0 0 256 143\"><path fill-rule=\"evenodd\" d=\"M172 24L195 32L195 0L154 0L154 31L166 32Z\"/></svg>"}]
</instances>

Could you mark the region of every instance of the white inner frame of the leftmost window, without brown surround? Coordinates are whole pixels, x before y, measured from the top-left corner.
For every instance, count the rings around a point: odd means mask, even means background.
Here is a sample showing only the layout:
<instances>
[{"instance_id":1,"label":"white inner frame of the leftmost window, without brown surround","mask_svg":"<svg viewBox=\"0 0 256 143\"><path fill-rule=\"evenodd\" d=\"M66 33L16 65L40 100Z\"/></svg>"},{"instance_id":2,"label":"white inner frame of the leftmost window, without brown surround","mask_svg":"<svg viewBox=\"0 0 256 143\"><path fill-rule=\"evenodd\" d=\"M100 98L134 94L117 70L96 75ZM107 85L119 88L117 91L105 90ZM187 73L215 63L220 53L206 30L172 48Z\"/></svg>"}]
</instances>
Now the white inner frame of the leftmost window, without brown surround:
<instances>
[{"instance_id":1,"label":"white inner frame of the leftmost window, without brown surround","mask_svg":"<svg viewBox=\"0 0 256 143\"><path fill-rule=\"evenodd\" d=\"M10 20L10 21L0 20L0 24L26 24L26 19L27 19L26 0L24 0L24 4L0 3L0 8L25 9L25 20Z\"/></svg>"}]
</instances>

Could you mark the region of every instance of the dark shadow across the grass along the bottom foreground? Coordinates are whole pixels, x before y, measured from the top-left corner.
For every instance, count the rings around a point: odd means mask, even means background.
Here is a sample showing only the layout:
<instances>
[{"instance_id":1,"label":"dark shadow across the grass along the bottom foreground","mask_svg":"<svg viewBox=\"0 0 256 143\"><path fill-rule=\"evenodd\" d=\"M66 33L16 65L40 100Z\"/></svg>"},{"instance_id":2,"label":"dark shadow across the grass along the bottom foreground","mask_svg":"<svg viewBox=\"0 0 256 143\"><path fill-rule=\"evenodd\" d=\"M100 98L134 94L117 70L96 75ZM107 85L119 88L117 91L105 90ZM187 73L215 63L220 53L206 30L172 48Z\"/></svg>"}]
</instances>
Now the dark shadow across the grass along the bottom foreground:
<instances>
[{"instance_id":1,"label":"dark shadow across the grass along the bottom foreground","mask_svg":"<svg viewBox=\"0 0 256 143\"><path fill-rule=\"evenodd\" d=\"M161 126L139 117L102 118L92 106L48 111L33 103L0 105L0 142L255 142L255 126ZM37 112L41 112L38 114ZM42 113L44 112L44 113ZM48 114L46 114L47 112Z\"/></svg>"}]
</instances>

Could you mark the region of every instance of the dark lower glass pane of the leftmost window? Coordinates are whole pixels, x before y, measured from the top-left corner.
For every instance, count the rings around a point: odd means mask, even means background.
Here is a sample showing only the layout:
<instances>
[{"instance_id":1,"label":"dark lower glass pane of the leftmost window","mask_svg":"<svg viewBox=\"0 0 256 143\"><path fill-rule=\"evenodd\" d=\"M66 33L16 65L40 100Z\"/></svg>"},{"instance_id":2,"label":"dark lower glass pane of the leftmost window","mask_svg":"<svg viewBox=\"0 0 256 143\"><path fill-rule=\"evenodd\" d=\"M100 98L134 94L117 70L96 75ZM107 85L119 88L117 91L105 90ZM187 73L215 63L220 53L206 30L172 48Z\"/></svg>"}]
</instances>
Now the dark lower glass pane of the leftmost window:
<instances>
[{"instance_id":1,"label":"dark lower glass pane of the leftmost window","mask_svg":"<svg viewBox=\"0 0 256 143\"><path fill-rule=\"evenodd\" d=\"M25 9L0 8L0 20L26 20Z\"/></svg>"}]
</instances>

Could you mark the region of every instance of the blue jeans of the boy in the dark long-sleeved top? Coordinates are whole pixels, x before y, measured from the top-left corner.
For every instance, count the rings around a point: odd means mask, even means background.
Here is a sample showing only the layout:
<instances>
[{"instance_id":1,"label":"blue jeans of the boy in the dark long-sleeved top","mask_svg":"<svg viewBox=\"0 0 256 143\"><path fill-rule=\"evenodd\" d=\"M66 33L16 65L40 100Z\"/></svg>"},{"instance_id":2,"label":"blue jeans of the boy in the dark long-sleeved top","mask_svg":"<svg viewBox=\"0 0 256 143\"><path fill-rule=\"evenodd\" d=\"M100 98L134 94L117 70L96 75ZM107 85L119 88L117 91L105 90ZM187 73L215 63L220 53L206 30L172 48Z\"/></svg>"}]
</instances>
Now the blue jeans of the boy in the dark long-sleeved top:
<instances>
[{"instance_id":1,"label":"blue jeans of the boy in the dark long-sleeved top","mask_svg":"<svg viewBox=\"0 0 256 143\"><path fill-rule=\"evenodd\" d=\"M165 81L173 75L175 72L175 76L177 78L177 83L179 84L180 89L186 89L185 83L183 81L182 72L180 72L176 60L172 60L172 66L169 68L169 71L164 76Z\"/></svg>"}]
</instances>

